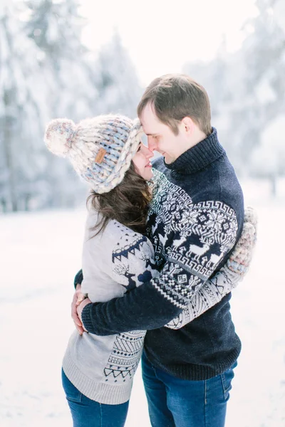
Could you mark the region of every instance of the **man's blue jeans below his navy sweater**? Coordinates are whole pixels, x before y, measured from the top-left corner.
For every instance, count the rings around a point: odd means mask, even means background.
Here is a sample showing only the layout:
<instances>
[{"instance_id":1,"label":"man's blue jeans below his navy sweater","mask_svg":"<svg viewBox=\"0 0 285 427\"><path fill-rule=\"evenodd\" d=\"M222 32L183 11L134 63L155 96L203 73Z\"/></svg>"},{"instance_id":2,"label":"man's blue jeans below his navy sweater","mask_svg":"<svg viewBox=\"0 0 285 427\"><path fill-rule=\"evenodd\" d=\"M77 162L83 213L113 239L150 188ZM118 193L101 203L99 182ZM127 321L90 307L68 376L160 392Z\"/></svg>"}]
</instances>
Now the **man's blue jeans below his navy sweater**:
<instances>
[{"instance_id":1,"label":"man's blue jeans below his navy sweater","mask_svg":"<svg viewBox=\"0 0 285 427\"><path fill-rule=\"evenodd\" d=\"M206 381L187 381L153 367L142 354L152 427L224 427L236 366Z\"/></svg>"}]
</instances>

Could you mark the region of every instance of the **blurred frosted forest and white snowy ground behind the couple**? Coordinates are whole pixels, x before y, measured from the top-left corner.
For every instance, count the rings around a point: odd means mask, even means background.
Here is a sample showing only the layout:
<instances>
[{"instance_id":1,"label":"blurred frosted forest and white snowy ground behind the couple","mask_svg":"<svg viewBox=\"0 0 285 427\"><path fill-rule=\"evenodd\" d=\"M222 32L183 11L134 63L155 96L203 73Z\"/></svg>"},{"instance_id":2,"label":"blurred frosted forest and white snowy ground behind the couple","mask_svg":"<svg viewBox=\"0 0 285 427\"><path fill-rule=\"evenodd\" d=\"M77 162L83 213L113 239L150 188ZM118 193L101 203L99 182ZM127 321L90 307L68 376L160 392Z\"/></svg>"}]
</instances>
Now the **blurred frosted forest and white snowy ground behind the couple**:
<instances>
[{"instance_id":1,"label":"blurred frosted forest and white snowy ground behind the couple","mask_svg":"<svg viewBox=\"0 0 285 427\"><path fill-rule=\"evenodd\" d=\"M140 81L141 68L135 68L122 33L112 33L111 26L108 43L100 51L88 50L83 43L88 19L81 17L81 1L0 0L1 427L71 426L60 373L74 328L70 304L73 277L81 266L86 186L66 159L46 149L46 123L54 117L78 122L105 112L135 117L148 83ZM181 3L175 2L177 14ZM234 9L242 0L230 3ZM223 13L217 4L221 1L215 1L211 20ZM256 4L258 13L244 23L238 50L229 51L227 33L211 60L193 61L184 49L182 67L207 89L212 125L242 182L246 204L259 216L249 274L232 292L242 354L227 427L285 426L285 293L280 275L285 240L285 0ZM95 16L103 25L109 18ZM163 34L153 26L161 16L152 16L146 26L136 19L133 25L138 23L142 40L144 31L150 31L155 48L160 46ZM163 25L165 31L174 31ZM205 31L207 44L211 36ZM171 38L172 33L167 43ZM162 51L171 56L180 48L175 43ZM145 66L152 68L155 64L145 58ZM125 427L134 426L150 427L140 367Z\"/></svg>"}]
</instances>

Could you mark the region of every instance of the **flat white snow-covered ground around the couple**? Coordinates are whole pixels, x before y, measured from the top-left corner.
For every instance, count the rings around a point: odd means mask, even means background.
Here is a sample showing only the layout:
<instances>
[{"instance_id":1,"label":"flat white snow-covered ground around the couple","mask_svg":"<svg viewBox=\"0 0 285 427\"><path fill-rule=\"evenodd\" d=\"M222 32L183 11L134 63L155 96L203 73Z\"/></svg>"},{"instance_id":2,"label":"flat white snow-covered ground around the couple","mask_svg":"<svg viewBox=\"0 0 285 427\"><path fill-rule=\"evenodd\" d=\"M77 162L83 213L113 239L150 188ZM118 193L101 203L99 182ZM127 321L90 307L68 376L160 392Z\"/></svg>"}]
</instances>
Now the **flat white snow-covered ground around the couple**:
<instances>
[{"instance_id":1,"label":"flat white snow-covered ground around the couple","mask_svg":"<svg viewBox=\"0 0 285 427\"><path fill-rule=\"evenodd\" d=\"M227 427L285 426L285 203L266 198L256 206L257 250L232 297L243 349ZM70 304L84 221L84 209L0 216L1 427L71 426L61 359L73 330ZM139 370L126 427L148 426Z\"/></svg>"}]
</instances>

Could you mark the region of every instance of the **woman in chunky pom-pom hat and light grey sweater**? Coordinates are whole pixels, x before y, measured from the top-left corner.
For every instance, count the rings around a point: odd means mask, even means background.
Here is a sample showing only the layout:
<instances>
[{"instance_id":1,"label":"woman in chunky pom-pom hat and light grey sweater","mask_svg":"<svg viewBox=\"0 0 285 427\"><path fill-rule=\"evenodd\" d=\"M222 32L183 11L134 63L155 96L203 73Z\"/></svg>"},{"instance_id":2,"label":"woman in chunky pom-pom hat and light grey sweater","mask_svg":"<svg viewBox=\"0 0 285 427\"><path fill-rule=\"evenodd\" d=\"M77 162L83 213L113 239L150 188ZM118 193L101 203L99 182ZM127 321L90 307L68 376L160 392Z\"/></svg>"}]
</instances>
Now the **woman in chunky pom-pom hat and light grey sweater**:
<instances>
[{"instance_id":1,"label":"woman in chunky pom-pom hat and light grey sweater","mask_svg":"<svg viewBox=\"0 0 285 427\"><path fill-rule=\"evenodd\" d=\"M68 157L92 189L88 197L81 288L91 302L123 296L158 274L152 243L145 236L152 152L142 144L141 136L138 120L133 122L121 115L103 115L78 125L71 120L53 120L46 130L48 149ZM239 256L241 250L246 255L250 252L249 239L244 238L248 234L254 236L255 231L254 226L247 225L235 249L237 259L233 259L233 254L228 266L199 291L208 300L211 295L210 306L241 280ZM247 263L247 259L242 263ZM193 300L179 321L172 320L166 326L182 327L203 310ZM107 337L73 332L63 358L62 378L74 427L124 426L144 337L145 331Z\"/></svg>"}]
</instances>

